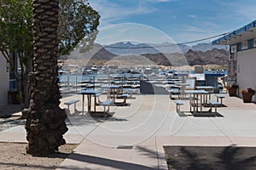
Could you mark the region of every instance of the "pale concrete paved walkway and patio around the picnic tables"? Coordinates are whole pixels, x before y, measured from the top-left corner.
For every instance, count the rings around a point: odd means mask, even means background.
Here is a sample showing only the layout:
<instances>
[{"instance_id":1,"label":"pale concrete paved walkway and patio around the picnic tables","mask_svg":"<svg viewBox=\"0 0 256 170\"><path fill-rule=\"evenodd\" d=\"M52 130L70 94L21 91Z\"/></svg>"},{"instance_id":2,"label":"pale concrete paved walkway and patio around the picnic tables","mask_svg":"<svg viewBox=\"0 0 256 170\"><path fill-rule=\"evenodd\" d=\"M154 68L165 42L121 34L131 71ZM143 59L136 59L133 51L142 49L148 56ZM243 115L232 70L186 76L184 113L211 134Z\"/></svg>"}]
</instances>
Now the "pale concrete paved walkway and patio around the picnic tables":
<instances>
[{"instance_id":1,"label":"pale concrete paved walkway and patio around the picnic tables","mask_svg":"<svg viewBox=\"0 0 256 170\"><path fill-rule=\"evenodd\" d=\"M57 169L167 169L164 145L255 146L256 105L225 95L225 107L214 115L192 115L189 101L181 107L185 112L177 114L166 95L135 95L128 99L130 106L112 106L114 115L108 118L72 114L64 138L79 146ZM62 101L69 99L81 96L64 96ZM81 106L79 102L79 111ZM26 142L24 127L1 132L0 141Z\"/></svg>"}]
</instances>

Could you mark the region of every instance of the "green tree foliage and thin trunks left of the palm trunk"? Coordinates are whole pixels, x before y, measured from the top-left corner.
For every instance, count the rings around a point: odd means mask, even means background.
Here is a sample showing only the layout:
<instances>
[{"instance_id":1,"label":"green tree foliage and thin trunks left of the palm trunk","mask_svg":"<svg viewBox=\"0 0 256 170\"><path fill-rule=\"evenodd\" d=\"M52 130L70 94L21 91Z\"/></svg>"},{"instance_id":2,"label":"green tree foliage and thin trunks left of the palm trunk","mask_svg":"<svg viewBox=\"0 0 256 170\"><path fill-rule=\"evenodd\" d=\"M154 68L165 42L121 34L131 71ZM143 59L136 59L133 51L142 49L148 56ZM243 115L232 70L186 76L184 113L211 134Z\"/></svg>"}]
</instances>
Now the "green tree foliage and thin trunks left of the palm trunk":
<instances>
[{"instance_id":1,"label":"green tree foliage and thin trunks left of the palm trunk","mask_svg":"<svg viewBox=\"0 0 256 170\"><path fill-rule=\"evenodd\" d=\"M32 0L14 1L2 0L0 2L0 51L14 73L21 107L28 104L28 86L23 83L15 65L13 53L18 54L20 71L23 82L27 82L27 75L32 67ZM23 92L23 93L22 93Z\"/></svg>"}]
</instances>

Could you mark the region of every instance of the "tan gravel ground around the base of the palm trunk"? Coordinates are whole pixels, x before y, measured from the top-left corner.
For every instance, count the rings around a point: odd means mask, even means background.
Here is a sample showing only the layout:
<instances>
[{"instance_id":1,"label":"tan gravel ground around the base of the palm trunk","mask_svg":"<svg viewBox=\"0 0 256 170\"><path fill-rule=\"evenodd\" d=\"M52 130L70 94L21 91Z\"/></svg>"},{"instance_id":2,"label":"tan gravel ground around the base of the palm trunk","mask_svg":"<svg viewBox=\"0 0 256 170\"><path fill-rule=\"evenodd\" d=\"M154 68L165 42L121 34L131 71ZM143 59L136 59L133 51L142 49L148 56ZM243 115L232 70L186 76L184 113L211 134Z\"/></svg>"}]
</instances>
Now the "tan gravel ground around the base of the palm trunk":
<instances>
[{"instance_id":1,"label":"tan gravel ground around the base of the palm trunk","mask_svg":"<svg viewBox=\"0 0 256 170\"><path fill-rule=\"evenodd\" d=\"M11 127L25 125L26 120L20 116L0 118L0 132ZM55 169L77 147L77 144L64 144L59 152L48 156L38 157L26 154L26 145L20 143L0 143L0 170L9 169Z\"/></svg>"}]
</instances>

